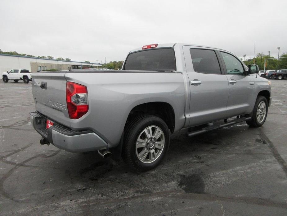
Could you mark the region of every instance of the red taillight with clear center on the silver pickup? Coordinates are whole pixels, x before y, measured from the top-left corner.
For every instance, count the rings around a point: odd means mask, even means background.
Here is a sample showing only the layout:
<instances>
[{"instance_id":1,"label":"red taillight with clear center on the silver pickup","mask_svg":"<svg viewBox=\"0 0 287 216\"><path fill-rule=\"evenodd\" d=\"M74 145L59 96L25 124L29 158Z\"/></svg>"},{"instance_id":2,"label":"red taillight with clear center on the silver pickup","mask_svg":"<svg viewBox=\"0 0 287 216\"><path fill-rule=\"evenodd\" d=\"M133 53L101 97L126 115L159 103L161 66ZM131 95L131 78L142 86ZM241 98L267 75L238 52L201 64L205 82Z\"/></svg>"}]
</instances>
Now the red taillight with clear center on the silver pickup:
<instances>
[{"instance_id":1,"label":"red taillight with clear center on the silver pickup","mask_svg":"<svg viewBox=\"0 0 287 216\"><path fill-rule=\"evenodd\" d=\"M71 119L78 119L85 115L89 110L87 87L67 82L66 100L68 113Z\"/></svg>"}]
</instances>

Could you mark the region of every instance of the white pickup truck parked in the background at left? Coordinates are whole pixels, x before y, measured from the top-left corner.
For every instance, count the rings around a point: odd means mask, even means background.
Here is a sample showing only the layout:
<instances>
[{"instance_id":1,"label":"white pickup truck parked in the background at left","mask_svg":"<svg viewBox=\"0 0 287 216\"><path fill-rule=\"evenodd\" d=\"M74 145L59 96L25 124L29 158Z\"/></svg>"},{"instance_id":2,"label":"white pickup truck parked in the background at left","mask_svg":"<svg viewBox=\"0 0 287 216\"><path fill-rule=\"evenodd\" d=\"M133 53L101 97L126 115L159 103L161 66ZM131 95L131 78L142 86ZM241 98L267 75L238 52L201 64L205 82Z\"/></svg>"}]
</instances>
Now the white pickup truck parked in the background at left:
<instances>
[{"instance_id":1,"label":"white pickup truck parked in the background at left","mask_svg":"<svg viewBox=\"0 0 287 216\"><path fill-rule=\"evenodd\" d=\"M14 80L14 82L18 82L19 80L23 80L25 83L29 83L32 81L31 73L27 69L12 69L11 71L7 71L2 73L3 82L8 82L9 80Z\"/></svg>"}]
</instances>

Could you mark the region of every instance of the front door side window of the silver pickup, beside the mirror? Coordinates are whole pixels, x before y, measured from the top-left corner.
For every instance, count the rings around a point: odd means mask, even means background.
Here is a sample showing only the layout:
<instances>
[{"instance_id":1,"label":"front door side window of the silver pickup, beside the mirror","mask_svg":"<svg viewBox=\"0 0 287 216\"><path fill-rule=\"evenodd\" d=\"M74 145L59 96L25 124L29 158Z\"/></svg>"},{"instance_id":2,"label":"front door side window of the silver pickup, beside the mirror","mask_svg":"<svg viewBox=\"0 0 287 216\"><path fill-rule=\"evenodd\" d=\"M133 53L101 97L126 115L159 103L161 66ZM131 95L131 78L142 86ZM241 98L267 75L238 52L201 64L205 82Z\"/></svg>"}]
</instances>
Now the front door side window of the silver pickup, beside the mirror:
<instances>
[{"instance_id":1,"label":"front door side window of the silver pickup, beside the mirror","mask_svg":"<svg viewBox=\"0 0 287 216\"><path fill-rule=\"evenodd\" d=\"M221 52L221 55L226 66L227 74L244 74L242 64L238 59L224 52Z\"/></svg>"}]
</instances>

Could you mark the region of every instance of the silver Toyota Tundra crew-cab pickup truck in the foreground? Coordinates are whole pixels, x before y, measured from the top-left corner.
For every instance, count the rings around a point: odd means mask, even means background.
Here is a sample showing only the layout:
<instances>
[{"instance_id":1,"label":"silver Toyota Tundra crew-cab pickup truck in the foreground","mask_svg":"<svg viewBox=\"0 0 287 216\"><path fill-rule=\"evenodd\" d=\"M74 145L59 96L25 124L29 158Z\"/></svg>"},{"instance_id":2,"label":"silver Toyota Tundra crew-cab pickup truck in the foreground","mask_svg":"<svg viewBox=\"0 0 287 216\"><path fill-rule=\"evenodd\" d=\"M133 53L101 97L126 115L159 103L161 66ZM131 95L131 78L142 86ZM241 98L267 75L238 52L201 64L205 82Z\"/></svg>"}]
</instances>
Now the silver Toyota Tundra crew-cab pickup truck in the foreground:
<instances>
[{"instance_id":1,"label":"silver Toyota Tundra crew-cab pickup truck in the foreground","mask_svg":"<svg viewBox=\"0 0 287 216\"><path fill-rule=\"evenodd\" d=\"M256 73L257 65L226 50L146 45L130 51L122 70L34 73L31 122L41 144L98 150L146 171L163 160L170 133L188 129L190 137L241 121L262 126L271 88Z\"/></svg>"}]
</instances>

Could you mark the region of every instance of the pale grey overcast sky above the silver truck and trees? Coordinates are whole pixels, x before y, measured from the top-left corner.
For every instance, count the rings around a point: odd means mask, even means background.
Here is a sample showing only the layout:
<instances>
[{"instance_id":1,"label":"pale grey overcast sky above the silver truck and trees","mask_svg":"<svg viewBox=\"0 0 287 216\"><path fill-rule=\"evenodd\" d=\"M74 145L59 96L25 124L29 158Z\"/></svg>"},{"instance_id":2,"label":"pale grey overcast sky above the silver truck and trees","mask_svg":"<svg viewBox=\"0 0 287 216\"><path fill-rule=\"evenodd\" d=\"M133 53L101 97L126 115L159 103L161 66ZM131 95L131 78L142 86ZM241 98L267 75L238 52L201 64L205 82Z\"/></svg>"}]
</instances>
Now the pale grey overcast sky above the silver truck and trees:
<instances>
[{"instance_id":1,"label":"pale grey overcast sky above the silver truck and trees","mask_svg":"<svg viewBox=\"0 0 287 216\"><path fill-rule=\"evenodd\" d=\"M29 2L29 3L28 3ZM153 43L239 57L287 52L287 1L0 1L0 49L74 61L119 61Z\"/></svg>"}]
</instances>

